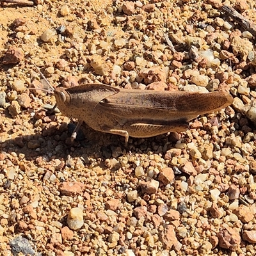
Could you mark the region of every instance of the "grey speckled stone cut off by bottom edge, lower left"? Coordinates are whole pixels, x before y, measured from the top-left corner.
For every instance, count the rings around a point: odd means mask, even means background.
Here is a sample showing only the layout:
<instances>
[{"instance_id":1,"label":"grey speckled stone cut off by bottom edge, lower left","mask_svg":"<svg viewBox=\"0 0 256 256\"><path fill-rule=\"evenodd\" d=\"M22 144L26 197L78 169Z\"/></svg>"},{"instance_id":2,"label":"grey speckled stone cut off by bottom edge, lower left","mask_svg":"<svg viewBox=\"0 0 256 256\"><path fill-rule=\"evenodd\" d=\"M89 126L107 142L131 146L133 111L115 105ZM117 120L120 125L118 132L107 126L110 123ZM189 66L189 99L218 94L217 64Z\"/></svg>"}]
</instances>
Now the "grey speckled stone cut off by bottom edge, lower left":
<instances>
[{"instance_id":1,"label":"grey speckled stone cut off by bottom edge, lower left","mask_svg":"<svg viewBox=\"0 0 256 256\"><path fill-rule=\"evenodd\" d=\"M18 255L19 253L23 253L23 255L35 255L35 250L33 250L28 239L22 236L15 237L9 244L13 255Z\"/></svg>"}]
</instances>

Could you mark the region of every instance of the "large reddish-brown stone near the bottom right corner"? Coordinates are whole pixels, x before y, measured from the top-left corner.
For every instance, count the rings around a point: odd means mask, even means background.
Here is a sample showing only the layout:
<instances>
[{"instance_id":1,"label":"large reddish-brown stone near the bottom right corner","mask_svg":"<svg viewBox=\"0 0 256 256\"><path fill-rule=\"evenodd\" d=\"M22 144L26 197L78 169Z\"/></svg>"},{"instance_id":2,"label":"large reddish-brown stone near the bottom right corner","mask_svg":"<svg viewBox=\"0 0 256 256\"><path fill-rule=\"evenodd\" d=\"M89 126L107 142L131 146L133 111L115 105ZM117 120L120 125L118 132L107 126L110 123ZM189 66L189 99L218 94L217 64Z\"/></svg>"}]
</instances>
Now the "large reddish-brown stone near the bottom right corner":
<instances>
[{"instance_id":1,"label":"large reddish-brown stone near the bottom right corner","mask_svg":"<svg viewBox=\"0 0 256 256\"><path fill-rule=\"evenodd\" d=\"M225 227L218 232L219 246L224 249L234 249L241 243L239 232L235 228Z\"/></svg>"}]
</instances>

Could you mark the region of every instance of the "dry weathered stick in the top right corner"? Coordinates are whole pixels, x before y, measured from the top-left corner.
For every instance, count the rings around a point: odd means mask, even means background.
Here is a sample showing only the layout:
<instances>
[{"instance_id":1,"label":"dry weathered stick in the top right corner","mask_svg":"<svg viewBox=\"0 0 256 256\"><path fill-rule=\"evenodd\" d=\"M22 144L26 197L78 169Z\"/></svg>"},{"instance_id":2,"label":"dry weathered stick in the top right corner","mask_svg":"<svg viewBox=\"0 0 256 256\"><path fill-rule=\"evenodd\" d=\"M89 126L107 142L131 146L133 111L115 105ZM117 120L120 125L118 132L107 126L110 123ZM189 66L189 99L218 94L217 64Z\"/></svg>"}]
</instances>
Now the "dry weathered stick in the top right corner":
<instances>
[{"instance_id":1,"label":"dry weathered stick in the top right corner","mask_svg":"<svg viewBox=\"0 0 256 256\"><path fill-rule=\"evenodd\" d=\"M237 23L239 23L244 29L252 33L253 36L256 37L256 26L250 20L246 19L243 15L237 12L233 7L228 5L223 5L221 7L221 11L225 12L229 17L234 19Z\"/></svg>"}]
</instances>

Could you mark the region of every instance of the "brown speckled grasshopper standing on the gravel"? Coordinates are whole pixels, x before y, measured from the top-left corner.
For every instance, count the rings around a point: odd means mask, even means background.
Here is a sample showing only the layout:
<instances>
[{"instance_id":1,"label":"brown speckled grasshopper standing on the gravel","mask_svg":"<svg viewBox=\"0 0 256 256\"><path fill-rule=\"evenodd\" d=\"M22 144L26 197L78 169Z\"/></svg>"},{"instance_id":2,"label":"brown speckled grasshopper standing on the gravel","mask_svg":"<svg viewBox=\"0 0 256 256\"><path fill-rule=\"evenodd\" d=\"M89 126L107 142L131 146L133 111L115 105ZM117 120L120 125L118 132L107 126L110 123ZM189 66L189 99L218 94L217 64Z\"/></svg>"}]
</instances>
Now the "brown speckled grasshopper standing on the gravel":
<instances>
[{"instance_id":1,"label":"brown speckled grasshopper standing on the gravel","mask_svg":"<svg viewBox=\"0 0 256 256\"><path fill-rule=\"evenodd\" d=\"M227 92L156 92L96 83L55 88L53 93L61 113L78 120L73 140L85 122L96 131L124 136L125 145L129 136L186 131L189 120L226 108L233 101Z\"/></svg>"}]
</instances>

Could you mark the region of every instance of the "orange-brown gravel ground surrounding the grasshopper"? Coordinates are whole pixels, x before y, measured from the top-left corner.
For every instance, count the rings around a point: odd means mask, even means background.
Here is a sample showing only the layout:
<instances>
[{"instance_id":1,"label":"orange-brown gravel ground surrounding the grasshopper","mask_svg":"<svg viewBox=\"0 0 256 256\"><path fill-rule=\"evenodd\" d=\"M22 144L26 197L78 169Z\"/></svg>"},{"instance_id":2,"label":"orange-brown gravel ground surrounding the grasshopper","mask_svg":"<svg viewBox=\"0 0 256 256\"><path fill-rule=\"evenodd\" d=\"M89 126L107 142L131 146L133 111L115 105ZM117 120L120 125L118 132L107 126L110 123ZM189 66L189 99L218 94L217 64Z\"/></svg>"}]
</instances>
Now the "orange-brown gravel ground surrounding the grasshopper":
<instances>
[{"instance_id":1,"label":"orange-brown gravel ground surrounding the grasshopper","mask_svg":"<svg viewBox=\"0 0 256 256\"><path fill-rule=\"evenodd\" d=\"M0 7L0 255L255 255L255 1L37 1ZM70 145L28 58L54 87L234 102L128 148L86 125Z\"/></svg>"}]
</instances>

